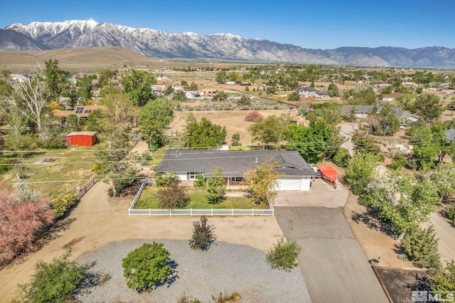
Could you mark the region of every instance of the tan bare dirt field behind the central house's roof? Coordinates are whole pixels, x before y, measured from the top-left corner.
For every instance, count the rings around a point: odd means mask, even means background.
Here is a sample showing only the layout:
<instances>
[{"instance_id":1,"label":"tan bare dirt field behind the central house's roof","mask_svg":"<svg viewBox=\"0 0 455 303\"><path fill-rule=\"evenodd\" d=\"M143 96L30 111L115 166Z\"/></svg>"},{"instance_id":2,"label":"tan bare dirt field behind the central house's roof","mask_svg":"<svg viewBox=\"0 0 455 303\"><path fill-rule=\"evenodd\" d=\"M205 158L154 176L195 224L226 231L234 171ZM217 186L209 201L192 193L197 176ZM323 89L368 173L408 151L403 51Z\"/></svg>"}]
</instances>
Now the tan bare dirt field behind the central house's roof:
<instances>
[{"instance_id":1,"label":"tan bare dirt field behind the central house's roof","mask_svg":"<svg viewBox=\"0 0 455 303\"><path fill-rule=\"evenodd\" d=\"M212 123L219 124L220 126L225 126L226 131L228 132L226 136L226 143L230 144L230 140L232 138L232 134L240 133L240 143L242 145L251 145L250 133L248 133L247 128L253 122L245 121L245 116L249 111L191 111L191 113L196 116L196 119L200 121L202 117L212 121ZM168 135L171 135L171 131L175 133L178 131L180 135L185 126L186 126L186 116L188 116L189 111L176 111L175 119L171 123L171 126L168 128ZM292 110L267 110L267 111L259 111L259 113L267 118L268 116L272 115L279 115L279 114L286 114L289 113L293 116L297 121L301 120L301 117L296 116L296 111Z\"/></svg>"}]
</instances>

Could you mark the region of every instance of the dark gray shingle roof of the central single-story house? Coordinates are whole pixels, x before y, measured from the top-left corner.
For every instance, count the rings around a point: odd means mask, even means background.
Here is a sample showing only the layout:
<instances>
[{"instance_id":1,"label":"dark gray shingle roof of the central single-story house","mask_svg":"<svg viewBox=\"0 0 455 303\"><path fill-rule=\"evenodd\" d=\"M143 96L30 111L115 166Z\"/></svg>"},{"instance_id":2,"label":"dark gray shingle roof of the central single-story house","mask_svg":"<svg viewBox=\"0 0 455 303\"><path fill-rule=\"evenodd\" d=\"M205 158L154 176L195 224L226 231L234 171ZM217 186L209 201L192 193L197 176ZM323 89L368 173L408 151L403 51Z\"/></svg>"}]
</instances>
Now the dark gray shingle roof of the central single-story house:
<instances>
[{"instance_id":1,"label":"dark gray shingle roof of the central single-story house","mask_svg":"<svg viewBox=\"0 0 455 303\"><path fill-rule=\"evenodd\" d=\"M288 176L318 177L319 173L290 150L167 150L156 172L203 172L210 176L214 166L223 169L223 177L242 177L251 165L261 165L268 158L279 162L279 172Z\"/></svg>"}]
</instances>

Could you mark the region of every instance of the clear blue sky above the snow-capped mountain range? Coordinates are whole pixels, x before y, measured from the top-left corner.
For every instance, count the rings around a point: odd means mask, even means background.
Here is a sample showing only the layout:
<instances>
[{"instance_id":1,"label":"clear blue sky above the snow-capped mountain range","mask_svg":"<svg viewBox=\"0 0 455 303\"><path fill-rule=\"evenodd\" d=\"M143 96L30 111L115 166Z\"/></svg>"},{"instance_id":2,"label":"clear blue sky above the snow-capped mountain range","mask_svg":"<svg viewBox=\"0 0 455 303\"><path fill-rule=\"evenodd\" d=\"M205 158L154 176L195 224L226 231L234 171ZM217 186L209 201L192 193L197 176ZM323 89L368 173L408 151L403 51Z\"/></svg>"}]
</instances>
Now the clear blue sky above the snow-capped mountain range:
<instances>
[{"instance_id":1,"label":"clear blue sky above the snow-capped mountain range","mask_svg":"<svg viewBox=\"0 0 455 303\"><path fill-rule=\"evenodd\" d=\"M0 0L0 28L87 18L168 33L232 33L302 48L455 48L454 0Z\"/></svg>"}]
</instances>

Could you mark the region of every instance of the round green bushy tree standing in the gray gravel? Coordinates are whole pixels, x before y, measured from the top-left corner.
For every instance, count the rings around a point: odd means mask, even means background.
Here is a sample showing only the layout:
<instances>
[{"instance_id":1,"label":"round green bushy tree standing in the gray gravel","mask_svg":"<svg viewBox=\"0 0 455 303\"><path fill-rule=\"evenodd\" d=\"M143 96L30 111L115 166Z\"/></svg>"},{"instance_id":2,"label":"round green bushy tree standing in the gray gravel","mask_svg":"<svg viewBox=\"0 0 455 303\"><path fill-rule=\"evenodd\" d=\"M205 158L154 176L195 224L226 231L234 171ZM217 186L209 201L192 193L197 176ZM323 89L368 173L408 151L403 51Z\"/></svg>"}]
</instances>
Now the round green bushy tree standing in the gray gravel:
<instances>
[{"instance_id":1,"label":"round green bushy tree standing in the gray gravel","mask_svg":"<svg viewBox=\"0 0 455 303\"><path fill-rule=\"evenodd\" d=\"M127 278L127 286L142 292L164 283L175 272L171 266L171 253L163 247L163 243L144 243L122 260L123 275Z\"/></svg>"}]
</instances>

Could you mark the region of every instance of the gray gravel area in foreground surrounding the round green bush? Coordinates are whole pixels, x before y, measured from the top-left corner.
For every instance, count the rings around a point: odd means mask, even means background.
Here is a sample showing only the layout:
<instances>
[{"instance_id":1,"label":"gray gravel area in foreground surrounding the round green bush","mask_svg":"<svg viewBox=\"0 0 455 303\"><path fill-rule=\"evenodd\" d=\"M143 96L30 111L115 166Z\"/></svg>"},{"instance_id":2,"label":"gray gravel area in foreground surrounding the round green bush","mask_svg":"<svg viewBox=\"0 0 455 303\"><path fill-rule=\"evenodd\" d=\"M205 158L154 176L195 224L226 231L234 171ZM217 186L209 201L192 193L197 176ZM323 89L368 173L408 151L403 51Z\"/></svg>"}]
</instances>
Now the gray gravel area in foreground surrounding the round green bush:
<instances>
[{"instance_id":1,"label":"gray gravel area in foreground surrounding the round green bush","mask_svg":"<svg viewBox=\"0 0 455 303\"><path fill-rule=\"evenodd\" d=\"M311 302L299 268L292 272L272 270L266 254L246 245L215 242L208 251L192 250L188 241L155 240L164 243L177 263L178 277L171 285L138 294L127 288L123 277L122 258L143 243L153 240L128 240L109 243L77 258L79 263L96 265L92 270L109 272L111 279L103 286L92 287L81 302L172 302L183 292L201 302L209 302L219 292L238 292L240 302Z\"/></svg>"}]
</instances>

